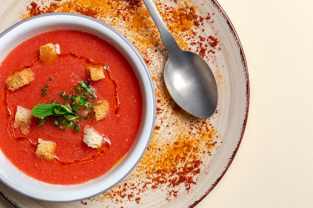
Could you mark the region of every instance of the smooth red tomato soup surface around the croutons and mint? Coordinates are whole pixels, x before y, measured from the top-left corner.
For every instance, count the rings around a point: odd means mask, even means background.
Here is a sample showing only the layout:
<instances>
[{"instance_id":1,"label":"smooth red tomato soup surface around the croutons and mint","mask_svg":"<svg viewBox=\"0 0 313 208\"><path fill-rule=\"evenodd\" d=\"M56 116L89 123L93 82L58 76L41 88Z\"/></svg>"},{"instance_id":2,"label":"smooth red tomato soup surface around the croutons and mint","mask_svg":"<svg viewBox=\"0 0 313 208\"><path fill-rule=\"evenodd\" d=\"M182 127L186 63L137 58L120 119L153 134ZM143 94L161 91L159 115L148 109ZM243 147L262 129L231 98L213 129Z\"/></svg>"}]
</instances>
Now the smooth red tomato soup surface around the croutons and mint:
<instances>
[{"instance_id":1,"label":"smooth red tomato soup surface around the croutons and mint","mask_svg":"<svg viewBox=\"0 0 313 208\"><path fill-rule=\"evenodd\" d=\"M47 43L57 46L58 53L53 60L42 61L39 48ZM103 66L102 78L90 78L90 65ZM23 69L31 71L33 80L16 90L9 89L6 79ZM55 115L44 119L32 116L26 133L14 126L17 106L32 110L38 104L56 103L71 109L70 98L82 97L82 81L95 95L83 100L89 104L105 100L106 117L95 120L92 110L90 115L80 116L86 112L81 108L73 126L60 124ZM1 62L0 83L1 151L20 171L39 181L70 185L98 178L127 154L137 137L142 100L136 76L120 52L94 35L53 30L25 40ZM103 136L101 147L91 148L83 141L86 127ZM39 138L53 142L53 159L36 155Z\"/></svg>"}]
</instances>

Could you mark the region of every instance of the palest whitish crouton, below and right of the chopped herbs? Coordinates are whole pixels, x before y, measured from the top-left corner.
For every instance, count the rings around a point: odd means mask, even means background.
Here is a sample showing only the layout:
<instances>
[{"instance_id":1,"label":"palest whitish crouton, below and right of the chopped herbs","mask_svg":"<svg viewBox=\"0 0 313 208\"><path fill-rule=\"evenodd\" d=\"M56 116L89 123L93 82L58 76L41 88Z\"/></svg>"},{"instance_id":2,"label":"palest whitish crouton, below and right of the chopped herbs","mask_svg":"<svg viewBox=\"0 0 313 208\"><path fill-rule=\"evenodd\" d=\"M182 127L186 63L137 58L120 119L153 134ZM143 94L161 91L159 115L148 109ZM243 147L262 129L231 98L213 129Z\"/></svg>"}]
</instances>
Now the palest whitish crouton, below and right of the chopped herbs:
<instances>
[{"instance_id":1,"label":"palest whitish crouton, below and right of the chopped herbs","mask_svg":"<svg viewBox=\"0 0 313 208\"><path fill-rule=\"evenodd\" d=\"M86 126L83 129L82 141L91 148L99 148L103 143L103 135L99 134L93 128Z\"/></svg>"}]
</instances>

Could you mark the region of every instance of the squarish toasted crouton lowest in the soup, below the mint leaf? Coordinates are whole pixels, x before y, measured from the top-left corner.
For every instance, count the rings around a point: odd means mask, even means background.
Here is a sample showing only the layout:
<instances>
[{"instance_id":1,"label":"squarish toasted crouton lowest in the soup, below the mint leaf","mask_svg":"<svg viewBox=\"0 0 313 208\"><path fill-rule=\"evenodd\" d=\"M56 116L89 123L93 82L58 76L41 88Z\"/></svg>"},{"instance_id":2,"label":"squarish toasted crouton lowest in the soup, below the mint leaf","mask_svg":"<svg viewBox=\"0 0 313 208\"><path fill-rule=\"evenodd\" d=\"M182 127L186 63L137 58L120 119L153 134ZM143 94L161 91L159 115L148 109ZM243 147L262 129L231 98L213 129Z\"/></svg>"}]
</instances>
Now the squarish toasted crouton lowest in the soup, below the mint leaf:
<instances>
[{"instance_id":1,"label":"squarish toasted crouton lowest in the soup, below the mint leaf","mask_svg":"<svg viewBox=\"0 0 313 208\"><path fill-rule=\"evenodd\" d=\"M52 160L54 158L55 143L52 141L44 141L38 139L38 145L36 149L36 155L44 160Z\"/></svg>"}]
</instances>

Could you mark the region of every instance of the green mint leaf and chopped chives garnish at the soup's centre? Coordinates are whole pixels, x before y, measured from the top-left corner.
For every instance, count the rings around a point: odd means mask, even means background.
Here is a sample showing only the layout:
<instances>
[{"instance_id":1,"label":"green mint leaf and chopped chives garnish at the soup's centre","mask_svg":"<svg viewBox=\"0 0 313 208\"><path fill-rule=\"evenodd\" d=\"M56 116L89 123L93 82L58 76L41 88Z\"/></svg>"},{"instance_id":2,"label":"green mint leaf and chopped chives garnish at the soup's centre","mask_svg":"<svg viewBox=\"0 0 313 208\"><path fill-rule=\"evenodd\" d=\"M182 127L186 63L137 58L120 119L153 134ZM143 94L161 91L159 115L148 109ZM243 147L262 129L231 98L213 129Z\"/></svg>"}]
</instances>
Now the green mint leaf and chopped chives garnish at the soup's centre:
<instances>
[{"instance_id":1,"label":"green mint leaf and chopped chives garnish at the soup's centre","mask_svg":"<svg viewBox=\"0 0 313 208\"><path fill-rule=\"evenodd\" d=\"M40 103L35 105L31 115L40 119L37 125L43 126L47 118L52 118L54 126L57 126L58 129L65 130L73 127L75 133L79 132L80 125L78 120L88 118L94 104L93 102L88 102L88 100L89 98L96 98L88 82L80 81L79 85L81 87L75 86L76 93L72 92L70 96L66 95L65 92L59 94L64 100L71 100L71 103L58 104L53 101L48 104ZM46 92L43 89L42 91ZM78 114L81 109L86 111L84 115Z\"/></svg>"}]
</instances>

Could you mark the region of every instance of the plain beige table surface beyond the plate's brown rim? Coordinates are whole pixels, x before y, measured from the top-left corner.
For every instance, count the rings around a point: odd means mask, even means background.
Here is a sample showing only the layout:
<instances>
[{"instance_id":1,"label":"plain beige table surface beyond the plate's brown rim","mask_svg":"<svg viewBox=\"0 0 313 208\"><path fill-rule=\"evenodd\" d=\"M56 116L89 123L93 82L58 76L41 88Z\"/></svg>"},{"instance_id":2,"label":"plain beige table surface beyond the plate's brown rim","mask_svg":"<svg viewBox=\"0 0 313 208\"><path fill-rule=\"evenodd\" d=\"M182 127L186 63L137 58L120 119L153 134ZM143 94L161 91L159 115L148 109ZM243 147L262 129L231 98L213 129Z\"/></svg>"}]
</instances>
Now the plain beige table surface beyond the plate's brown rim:
<instances>
[{"instance_id":1,"label":"plain beige table surface beyond the plate's brown rim","mask_svg":"<svg viewBox=\"0 0 313 208\"><path fill-rule=\"evenodd\" d=\"M218 2L246 56L250 107L237 155L195 208L313 208L313 1Z\"/></svg>"}]
</instances>

